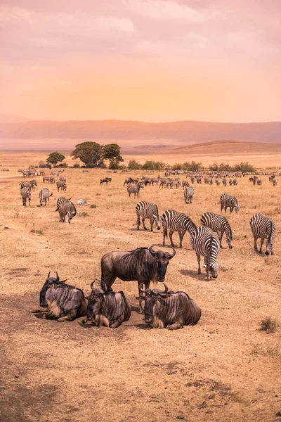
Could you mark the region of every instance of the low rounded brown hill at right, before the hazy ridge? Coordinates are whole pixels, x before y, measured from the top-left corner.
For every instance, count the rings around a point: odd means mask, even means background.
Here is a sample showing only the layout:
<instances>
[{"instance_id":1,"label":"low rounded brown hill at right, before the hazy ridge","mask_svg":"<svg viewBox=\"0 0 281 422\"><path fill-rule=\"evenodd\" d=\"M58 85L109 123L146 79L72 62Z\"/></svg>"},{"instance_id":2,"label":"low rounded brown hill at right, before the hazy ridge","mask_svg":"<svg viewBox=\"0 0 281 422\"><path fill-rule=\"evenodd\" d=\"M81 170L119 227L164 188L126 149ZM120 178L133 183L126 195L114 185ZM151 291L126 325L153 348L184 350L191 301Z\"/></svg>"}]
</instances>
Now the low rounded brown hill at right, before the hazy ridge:
<instances>
[{"instance_id":1,"label":"low rounded brown hill at right, before the hazy ridge","mask_svg":"<svg viewBox=\"0 0 281 422\"><path fill-rule=\"evenodd\" d=\"M281 143L262 143L247 141L212 141L162 151L161 154L173 155L234 155L234 154L281 153Z\"/></svg>"}]
</instances>

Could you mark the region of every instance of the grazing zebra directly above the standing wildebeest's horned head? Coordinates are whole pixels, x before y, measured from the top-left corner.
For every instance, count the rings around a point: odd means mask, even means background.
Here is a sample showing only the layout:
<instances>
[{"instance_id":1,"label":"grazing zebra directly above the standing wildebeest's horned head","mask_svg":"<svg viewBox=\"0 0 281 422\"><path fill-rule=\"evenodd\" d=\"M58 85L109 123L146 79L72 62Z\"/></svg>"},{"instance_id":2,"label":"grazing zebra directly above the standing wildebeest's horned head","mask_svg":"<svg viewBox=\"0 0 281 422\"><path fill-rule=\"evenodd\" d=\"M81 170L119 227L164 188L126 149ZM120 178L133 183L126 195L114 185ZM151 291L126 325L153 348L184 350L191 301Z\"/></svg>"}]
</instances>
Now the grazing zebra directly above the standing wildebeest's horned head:
<instances>
[{"instance_id":1,"label":"grazing zebra directly above the standing wildebeest's horned head","mask_svg":"<svg viewBox=\"0 0 281 422\"><path fill-rule=\"evenodd\" d=\"M180 248L183 247L183 236L186 231L188 231L189 234L192 234L192 232L196 229L196 226L190 217L174 210L166 210L163 212L161 216L161 223L163 227L163 246L165 245L165 237L168 237L168 229L170 231L169 238L171 246L174 246L172 238L174 231L178 231L178 236L180 237Z\"/></svg>"}]
</instances>

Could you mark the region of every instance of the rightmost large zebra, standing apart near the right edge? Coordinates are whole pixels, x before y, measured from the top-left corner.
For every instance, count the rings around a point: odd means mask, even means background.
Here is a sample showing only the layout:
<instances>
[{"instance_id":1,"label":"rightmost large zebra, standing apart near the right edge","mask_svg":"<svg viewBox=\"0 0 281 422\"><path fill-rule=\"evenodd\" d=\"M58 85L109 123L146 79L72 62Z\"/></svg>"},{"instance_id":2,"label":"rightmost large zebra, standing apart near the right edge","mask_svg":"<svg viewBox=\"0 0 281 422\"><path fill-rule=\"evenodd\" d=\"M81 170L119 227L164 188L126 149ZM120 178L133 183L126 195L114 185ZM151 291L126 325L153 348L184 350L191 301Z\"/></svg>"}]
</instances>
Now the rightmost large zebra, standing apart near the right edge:
<instances>
[{"instance_id":1,"label":"rightmost large zebra, standing apart near the right edge","mask_svg":"<svg viewBox=\"0 0 281 422\"><path fill-rule=\"evenodd\" d=\"M266 255L274 255L273 242L275 238L275 224L273 219L264 217L261 214L254 214L250 219L251 232L254 236L254 250L258 252L258 245L256 240L261 238L261 248L263 247L263 241L266 238ZM261 253L261 248L259 253Z\"/></svg>"}]
</instances>

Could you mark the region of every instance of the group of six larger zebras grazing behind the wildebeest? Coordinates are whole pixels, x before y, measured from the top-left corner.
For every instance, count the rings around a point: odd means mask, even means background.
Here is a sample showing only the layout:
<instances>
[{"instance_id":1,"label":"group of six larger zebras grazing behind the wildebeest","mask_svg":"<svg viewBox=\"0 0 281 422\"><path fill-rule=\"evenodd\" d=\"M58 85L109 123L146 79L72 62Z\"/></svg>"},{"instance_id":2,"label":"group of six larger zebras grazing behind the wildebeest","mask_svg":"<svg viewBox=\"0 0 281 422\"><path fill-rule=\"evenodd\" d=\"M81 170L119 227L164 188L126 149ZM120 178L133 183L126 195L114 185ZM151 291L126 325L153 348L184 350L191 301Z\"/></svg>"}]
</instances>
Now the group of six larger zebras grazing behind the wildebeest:
<instances>
[{"instance_id":1,"label":"group of six larger zebras grazing behind the wildebeest","mask_svg":"<svg viewBox=\"0 0 281 422\"><path fill-rule=\"evenodd\" d=\"M235 196L223 193L220 198L221 212L223 209L230 208L230 214L235 210L239 212L240 205ZM160 229L160 222L163 229L163 246L165 245L165 238L170 239L171 246L174 248L173 234L178 232L180 244L183 247L183 237L186 231L190 234L190 242L192 248L195 250L198 262L198 274L201 273L200 260L204 257L204 266L206 268L207 281L209 276L216 278L218 276L218 263L216 258L218 251L222 248L223 234L226 234L226 243L228 248L233 249L233 234L235 233L223 215L214 214L214 212L204 212L200 222L201 226L197 227L194 222L183 212L175 210L166 210L159 217L158 207L155 203L148 203L141 201L136 204L137 215L137 229L143 222L145 230L145 219L150 220L150 231L153 231L153 224L156 224L157 229ZM262 252L263 241L266 239L266 255L274 255L273 242L275 239L275 224L273 219L264 217L261 214L255 214L250 219L251 232L254 236L254 250L258 252L257 239L261 238L261 247L259 253ZM168 235L169 231L169 235Z\"/></svg>"}]
</instances>

